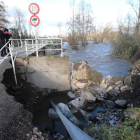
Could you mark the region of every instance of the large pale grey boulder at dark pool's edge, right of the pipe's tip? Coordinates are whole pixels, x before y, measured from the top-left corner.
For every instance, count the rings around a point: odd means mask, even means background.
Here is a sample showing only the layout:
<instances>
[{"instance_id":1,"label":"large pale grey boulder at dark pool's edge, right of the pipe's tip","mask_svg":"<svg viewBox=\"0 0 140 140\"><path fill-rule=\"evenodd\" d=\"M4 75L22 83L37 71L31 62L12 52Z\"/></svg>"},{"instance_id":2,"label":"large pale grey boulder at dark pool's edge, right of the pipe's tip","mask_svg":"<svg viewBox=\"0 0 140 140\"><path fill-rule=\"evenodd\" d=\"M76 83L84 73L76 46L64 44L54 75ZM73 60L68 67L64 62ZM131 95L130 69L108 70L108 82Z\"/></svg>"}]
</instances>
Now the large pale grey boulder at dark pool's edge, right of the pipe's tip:
<instances>
[{"instance_id":1,"label":"large pale grey boulder at dark pool's edge, right of the pipe's tip","mask_svg":"<svg viewBox=\"0 0 140 140\"><path fill-rule=\"evenodd\" d=\"M68 104L77 109L80 109L83 108L86 105L86 103L87 101L85 100L85 98L78 97L77 99L70 101Z\"/></svg>"}]
</instances>

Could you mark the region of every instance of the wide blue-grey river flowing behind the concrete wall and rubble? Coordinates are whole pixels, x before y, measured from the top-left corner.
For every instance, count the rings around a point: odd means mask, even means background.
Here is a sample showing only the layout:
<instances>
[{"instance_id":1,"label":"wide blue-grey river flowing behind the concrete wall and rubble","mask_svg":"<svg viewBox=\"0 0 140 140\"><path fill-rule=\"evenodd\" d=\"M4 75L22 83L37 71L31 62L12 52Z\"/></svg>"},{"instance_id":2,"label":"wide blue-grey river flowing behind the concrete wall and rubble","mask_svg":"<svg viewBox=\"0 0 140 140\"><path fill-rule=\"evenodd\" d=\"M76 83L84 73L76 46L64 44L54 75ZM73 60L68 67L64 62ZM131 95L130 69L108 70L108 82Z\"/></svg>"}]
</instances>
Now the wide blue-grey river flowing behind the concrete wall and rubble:
<instances>
[{"instance_id":1,"label":"wide blue-grey river flowing behind the concrete wall and rubble","mask_svg":"<svg viewBox=\"0 0 140 140\"><path fill-rule=\"evenodd\" d=\"M70 56L70 65L74 61L88 61L92 70L97 70L103 76L125 76L128 74L128 68L131 62L117 58L111 55L113 47L109 42L93 44L89 41L86 47L79 46L79 50L72 50L67 42L64 42L63 48L66 48L64 55Z\"/></svg>"}]
</instances>

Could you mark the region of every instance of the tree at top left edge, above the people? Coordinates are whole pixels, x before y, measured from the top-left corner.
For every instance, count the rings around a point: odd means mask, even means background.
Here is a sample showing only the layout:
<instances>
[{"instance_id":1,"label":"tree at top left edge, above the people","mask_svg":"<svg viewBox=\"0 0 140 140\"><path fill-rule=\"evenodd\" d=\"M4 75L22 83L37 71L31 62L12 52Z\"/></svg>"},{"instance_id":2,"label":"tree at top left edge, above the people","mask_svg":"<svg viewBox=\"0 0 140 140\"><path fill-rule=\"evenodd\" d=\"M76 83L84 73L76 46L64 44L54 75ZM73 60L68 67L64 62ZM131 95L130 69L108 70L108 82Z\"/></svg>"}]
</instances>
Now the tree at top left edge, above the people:
<instances>
[{"instance_id":1,"label":"tree at top left edge, above the people","mask_svg":"<svg viewBox=\"0 0 140 140\"><path fill-rule=\"evenodd\" d=\"M0 25L5 25L9 23L7 19L6 5L3 1L0 1Z\"/></svg>"}]
</instances>

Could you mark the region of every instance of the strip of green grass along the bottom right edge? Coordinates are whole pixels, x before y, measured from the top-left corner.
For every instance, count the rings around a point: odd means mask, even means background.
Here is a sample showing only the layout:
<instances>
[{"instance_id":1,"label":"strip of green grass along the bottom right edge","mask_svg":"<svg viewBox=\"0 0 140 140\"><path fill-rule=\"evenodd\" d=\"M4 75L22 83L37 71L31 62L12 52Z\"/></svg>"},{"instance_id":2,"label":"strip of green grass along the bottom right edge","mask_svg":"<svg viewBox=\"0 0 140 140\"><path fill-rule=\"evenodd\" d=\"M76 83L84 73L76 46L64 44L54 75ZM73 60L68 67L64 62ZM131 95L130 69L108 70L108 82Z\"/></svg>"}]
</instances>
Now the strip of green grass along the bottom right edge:
<instances>
[{"instance_id":1,"label":"strip of green grass along the bottom right edge","mask_svg":"<svg viewBox=\"0 0 140 140\"><path fill-rule=\"evenodd\" d=\"M90 126L85 132L95 140L138 140L140 136L131 126L116 125L115 127L105 124L98 127Z\"/></svg>"}]
</instances>

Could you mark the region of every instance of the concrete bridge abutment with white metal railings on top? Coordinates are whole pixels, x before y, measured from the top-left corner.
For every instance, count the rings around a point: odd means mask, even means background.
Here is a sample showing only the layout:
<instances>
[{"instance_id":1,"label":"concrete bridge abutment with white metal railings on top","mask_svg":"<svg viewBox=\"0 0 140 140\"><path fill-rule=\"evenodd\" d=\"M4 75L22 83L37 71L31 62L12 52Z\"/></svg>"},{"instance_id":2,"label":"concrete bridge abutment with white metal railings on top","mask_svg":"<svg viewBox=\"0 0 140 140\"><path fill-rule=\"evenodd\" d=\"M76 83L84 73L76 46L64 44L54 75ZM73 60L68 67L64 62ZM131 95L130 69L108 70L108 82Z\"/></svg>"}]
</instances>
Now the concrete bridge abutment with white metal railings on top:
<instances>
[{"instance_id":1,"label":"concrete bridge abutment with white metal railings on top","mask_svg":"<svg viewBox=\"0 0 140 140\"><path fill-rule=\"evenodd\" d=\"M70 60L69 56L63 56L61 38L38 38L37 42L35 39L9 41L16 83L16 74L19 74L40 88L70 90ZM0 63L4 63L8 57L7 54L1 58Z\"/></svg>"}]
</instances>

